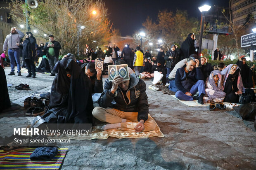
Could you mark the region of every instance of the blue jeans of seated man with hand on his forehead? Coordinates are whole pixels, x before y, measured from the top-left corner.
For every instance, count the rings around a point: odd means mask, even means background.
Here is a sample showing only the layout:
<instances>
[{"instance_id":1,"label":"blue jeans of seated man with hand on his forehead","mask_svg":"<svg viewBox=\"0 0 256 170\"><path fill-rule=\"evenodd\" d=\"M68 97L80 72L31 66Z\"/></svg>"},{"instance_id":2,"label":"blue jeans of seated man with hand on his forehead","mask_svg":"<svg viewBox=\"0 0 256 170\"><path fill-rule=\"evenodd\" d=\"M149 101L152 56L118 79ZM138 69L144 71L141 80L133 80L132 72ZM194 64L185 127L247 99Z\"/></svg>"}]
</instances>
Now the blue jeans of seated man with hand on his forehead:
<instances>
[{"instance_id":1,"label":"blue jeans of seated man with hand on his forehead","mask_svg":"<svg viewBox=\"0 0 256 170\"><path fill-rule=\"evenodd\" d=\"M197 93L197 91L199 92L199 95L201 94L205 94L205 88L204 88L204 80L198 80L196 84L194 84L191 88L190 88L190 93L192 94L192 96ZM192 101L193 97L184 94L182 91L177 91L175 93L176 98L180 99L180 100L187 100L187 101Z\"/></svg>"}]
</instances>

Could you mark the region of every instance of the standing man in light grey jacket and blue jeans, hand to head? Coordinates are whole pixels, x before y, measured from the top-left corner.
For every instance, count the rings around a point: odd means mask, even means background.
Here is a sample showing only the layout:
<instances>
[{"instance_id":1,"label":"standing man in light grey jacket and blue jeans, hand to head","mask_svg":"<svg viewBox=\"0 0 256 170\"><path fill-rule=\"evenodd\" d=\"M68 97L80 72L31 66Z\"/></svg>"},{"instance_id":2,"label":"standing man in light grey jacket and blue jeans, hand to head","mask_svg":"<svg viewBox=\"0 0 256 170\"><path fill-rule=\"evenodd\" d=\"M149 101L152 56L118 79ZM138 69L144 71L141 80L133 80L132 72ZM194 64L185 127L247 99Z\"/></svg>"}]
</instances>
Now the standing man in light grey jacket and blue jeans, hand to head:
<instances>
[{"instance_id":1,"label":"standing man in light grey jacket and blue jeans, hand to head","mask_svg":"<svg viewBox=\"0 0 256 170\"><path fill-rule=\"evenodd\" d=\"M14 67L15 67L15 61L17 63L17 70L18 70L18 76L21 76L21 65L19 60L19 47L18 44L20 44L20 40L24 37L24 33L22 33L20 30L18 30L16 27L11 28L11 33L6 36L4 46L3 46L3 52L6 53L7 47L8 47L8 56L11 62L11 72L8 74L9 76L15 75L14 73Z\"/></svg>"}]
</instances>

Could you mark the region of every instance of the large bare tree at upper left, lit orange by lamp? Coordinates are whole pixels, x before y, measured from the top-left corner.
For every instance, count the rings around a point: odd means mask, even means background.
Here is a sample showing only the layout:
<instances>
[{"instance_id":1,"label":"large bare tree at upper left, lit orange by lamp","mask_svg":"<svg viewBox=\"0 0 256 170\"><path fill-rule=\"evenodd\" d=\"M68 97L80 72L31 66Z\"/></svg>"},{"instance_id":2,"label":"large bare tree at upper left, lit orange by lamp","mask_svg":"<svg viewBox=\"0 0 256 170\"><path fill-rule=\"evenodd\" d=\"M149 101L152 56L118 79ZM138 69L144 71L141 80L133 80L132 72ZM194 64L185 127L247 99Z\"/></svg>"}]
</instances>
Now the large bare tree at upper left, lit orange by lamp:
<instances>
[{"instance_id":1,"label":"large bare tree at upper left, lit orange by lamp","mask_svg":"<svg viewBox=\"0 0 256 170\"><path fill-rule=\"evenodd\" d=\"M76 54L76 47L85 48L105 44L111 36L111 24L102 0L44 0L36 9L27 7L20 0L10 0L11 16L18 23L25 23L29 10L29 24L40 30L41 35L52 34L62 46L62 53ZM96 14L92 14L95 10Z\"/></svg>"}]
</instances>

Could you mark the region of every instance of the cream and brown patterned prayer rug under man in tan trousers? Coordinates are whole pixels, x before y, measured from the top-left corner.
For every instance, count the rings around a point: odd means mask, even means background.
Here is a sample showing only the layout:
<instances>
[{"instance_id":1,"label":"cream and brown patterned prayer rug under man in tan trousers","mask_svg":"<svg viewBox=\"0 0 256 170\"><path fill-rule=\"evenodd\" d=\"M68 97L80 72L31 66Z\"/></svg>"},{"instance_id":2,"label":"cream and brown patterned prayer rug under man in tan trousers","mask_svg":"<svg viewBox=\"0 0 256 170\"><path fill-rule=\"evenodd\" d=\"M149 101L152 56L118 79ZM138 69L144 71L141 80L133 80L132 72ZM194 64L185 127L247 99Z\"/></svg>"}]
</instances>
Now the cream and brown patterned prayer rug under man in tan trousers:
<instances>
[{"instance_id":1,"label":"cream and brown patterned prayer rug under man in tan trousers","mask_svg":"<svg viewBox=\"0 0 256 170\"><path fill-rule=\"evenodd\" d=\"M119 139L146 138L146 137L164 137L164 134L161 132L159 126L156 124L155 129L149 132L137 133L133 131L122 131L121 129L108 129L104 131L92 130L92 135L77 135L77 136L71 136L71 137L59 136L56 139L91 140L91 139L107 139L108 137L116 137Z\"/></svg>"}]
</instances>

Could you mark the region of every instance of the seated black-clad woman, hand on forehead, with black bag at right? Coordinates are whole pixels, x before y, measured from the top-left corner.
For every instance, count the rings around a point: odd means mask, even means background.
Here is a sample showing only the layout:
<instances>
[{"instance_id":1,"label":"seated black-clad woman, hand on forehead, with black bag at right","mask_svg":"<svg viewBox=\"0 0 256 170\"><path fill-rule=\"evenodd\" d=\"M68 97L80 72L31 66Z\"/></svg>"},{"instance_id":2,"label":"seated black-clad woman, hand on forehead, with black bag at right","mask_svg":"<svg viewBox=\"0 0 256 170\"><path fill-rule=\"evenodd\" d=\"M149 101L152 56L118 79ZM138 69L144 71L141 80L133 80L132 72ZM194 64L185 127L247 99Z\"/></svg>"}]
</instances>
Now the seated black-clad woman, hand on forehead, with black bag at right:
<instances>
[{"instance_id":1,"label":"seated black-clad woman, hand on forehead, with black bag at right","mask_svg":"<svg viewBox=\"0 0 256 170\"><path fill-rule=\"evenodd\" d=\"M254 91L251 88L244 88L240 68L236 64L230 64L221 71L224 76L223 86L226 96L224 102L239 102L239 95L251 95L251 100L255 99Z\"/></svg>"}]
</instances>

